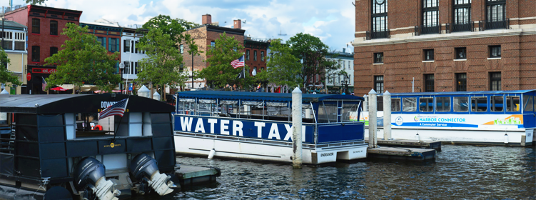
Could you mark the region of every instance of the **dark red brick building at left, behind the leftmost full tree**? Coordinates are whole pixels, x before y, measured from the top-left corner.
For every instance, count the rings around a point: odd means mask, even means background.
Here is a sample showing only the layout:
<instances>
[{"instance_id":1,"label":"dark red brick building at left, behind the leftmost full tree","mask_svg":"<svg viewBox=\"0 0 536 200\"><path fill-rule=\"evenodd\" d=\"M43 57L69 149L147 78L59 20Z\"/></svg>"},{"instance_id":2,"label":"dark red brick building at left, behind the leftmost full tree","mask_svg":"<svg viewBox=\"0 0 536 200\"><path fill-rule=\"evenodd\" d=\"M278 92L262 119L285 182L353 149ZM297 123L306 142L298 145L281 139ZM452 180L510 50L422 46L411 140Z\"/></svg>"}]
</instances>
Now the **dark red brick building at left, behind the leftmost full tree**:
<instances>
[{"instance_id":1,"label":"dark red brick building at left, behind the leftmost full tree","mask_svg":"<svg viewBox=\"0 0 536 200\"><path fill-rule=\"evenodd\" d=\"M56 9L46 6L29 5L6 12L4 18L28 26L27 78L22 94L46 94L41 88L43 78L56 71L56 66L47 66L45 59L58 53L61 44L68 39L61 31L67 23L79 24L82 11Z\"/></svg>"}]
</instances>

